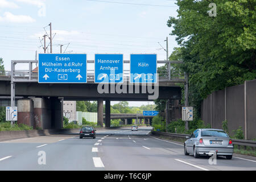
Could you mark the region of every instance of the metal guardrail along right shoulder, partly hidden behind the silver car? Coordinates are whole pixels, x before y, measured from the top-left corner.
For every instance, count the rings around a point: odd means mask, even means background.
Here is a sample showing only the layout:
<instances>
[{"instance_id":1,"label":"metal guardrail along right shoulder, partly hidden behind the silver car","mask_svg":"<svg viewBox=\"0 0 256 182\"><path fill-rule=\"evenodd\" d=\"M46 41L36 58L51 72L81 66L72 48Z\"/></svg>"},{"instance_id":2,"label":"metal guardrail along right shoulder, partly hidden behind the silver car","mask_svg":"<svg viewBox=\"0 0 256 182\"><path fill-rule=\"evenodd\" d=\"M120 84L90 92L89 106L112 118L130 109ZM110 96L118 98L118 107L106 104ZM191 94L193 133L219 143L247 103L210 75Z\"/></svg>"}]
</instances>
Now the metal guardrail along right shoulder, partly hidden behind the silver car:
<instances>
[{"instance_id":1,"label":"metal guardrail along right shoulder, partly hidden behind the silver car","mask_svg":"<svg viewBox=\"0 0 256 182\"><path fill-rule=\"evenodd\" d=\"M179 138L179 139L186 139L186 137L189 137L188 134L177 134L177 133L166 133L166 132L160 132L160 131L152 131L152 135L164 135L168 136L170 138ZM256 141L254 140L240 140L240 139L232 139L232 143L236 144L238 148L240 149L240 146L249 146L254 150L256 147Z\"/></svg>"}]
</instances>

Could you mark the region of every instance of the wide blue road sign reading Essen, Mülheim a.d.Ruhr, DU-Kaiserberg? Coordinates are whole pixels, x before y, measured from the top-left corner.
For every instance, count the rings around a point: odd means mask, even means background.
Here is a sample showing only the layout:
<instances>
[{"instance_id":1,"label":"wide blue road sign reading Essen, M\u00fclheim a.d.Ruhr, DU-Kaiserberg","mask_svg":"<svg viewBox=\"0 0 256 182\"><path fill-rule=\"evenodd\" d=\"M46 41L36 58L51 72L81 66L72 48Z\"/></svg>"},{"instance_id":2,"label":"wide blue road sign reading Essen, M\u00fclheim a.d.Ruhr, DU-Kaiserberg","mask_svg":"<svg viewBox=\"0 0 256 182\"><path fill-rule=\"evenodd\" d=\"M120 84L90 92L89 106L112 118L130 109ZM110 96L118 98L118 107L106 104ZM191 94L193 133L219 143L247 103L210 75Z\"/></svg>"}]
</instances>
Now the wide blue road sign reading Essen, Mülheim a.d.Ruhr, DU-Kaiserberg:
<instances>
[{"instance_id":1,"label":"wide blue road sign reading Essen, M\u00fclheim a.d.Ruhr, DU-Kaiserberg","mask_svg":"<svg viewBox=\"0 0 256 182\"><path fill-rule=\"evenodd\" d=\"M86 54L39 54L39 83L86 83Z\"/></svg>"}]
</instances>

